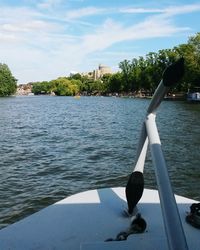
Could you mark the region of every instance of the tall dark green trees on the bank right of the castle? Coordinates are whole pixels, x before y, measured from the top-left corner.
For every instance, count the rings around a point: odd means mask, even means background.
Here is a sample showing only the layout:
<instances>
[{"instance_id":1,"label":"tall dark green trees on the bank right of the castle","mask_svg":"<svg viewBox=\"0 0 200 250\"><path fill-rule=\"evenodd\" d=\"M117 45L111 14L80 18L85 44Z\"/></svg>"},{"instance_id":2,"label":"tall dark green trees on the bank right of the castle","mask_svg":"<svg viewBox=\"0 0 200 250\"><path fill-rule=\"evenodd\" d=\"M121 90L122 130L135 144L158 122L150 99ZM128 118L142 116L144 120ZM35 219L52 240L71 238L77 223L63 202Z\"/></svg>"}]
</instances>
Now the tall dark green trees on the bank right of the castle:
<instances>
[{"instance_id":1,"label":"tall dark green trees on the bank right of the castle","mask_svg":"<svg viewBox=\"0 0 200 250\"><path fill-rule=\"evenodd\" d=\"M159 50L158 53L150 52L145 57L134 58L132 61L120 62L120 90L144 89L154 92L164 69L180 57L185 59L185 74L174 91L187 92L189 88L200 86L200 33L197 33L189 38L187 44Z\"/></svg>"}]
</instances>

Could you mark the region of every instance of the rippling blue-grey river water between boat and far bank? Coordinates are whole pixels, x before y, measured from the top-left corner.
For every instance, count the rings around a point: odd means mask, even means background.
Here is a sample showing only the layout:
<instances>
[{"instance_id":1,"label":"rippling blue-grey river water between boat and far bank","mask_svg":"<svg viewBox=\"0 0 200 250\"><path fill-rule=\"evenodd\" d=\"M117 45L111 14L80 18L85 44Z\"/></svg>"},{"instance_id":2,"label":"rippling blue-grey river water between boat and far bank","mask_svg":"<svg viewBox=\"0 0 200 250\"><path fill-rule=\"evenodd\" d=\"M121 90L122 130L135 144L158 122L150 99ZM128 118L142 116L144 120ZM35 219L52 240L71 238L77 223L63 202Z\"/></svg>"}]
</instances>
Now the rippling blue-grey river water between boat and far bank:
<instances>
[{"instance_id":1,"label":"rippling blue-grey river water between boat and far bank","mask_svg":"<svg viewBox=\"0 0 200 250\"><path fill-rule=\"evenodd\" d=\"M68 195L124 186L150 100L0 98L0 228ZM174 192L200 200L200 105L164 101L157 113ZM156 188L148 154L145 187Z\"/></svg>"}]
</instances>

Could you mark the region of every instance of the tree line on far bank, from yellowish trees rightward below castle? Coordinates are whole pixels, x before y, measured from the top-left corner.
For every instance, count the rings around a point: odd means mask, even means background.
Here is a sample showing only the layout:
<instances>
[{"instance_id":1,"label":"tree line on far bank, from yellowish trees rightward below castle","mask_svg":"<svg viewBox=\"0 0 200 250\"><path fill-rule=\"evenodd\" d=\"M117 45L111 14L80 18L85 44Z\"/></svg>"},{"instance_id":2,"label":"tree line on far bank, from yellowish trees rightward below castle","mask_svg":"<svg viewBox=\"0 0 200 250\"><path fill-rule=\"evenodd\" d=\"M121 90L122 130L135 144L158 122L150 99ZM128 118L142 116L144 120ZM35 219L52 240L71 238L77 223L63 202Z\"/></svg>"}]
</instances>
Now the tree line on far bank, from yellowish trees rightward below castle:
<instances>
[{"instance_id":1,"label":"tree line on far bank, from yellowish trees rightward below castle","mask_svg":"<svg viewBox=\"0 0 200 250\"><path fill-rule=\"evenodd\" d=\"M164 69L178 58L185 59L185 74L174 92L187 92L188 89L200 86L200 33L172 49L150 52L146 56L124 60L119 63L120 71L106 74L99 80L75 74L71 77L60 77L50 82L33 84L35 94L55 92L56 95L137 93L144 90L153 93Z\"/></svg>"}]
</instances>

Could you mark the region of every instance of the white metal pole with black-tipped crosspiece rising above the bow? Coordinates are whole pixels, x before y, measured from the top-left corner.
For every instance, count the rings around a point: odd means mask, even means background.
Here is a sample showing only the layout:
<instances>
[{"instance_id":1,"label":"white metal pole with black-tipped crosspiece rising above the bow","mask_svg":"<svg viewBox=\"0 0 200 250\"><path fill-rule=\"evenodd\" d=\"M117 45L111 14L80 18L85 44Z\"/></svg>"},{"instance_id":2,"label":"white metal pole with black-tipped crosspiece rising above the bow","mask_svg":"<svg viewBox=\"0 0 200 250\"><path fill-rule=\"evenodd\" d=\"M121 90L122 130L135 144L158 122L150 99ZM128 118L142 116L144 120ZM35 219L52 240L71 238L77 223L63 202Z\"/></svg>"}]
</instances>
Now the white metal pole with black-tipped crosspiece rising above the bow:
<instances>
[{"instance_id":1,"label":"white metal pole with black-tipped crosspiece rising above the bow","mask_svg":"<svg viewBox=\"0 0 200 250\"><path fill-rule=\"evenodd\" d=\"M171 250L186 250L188 249L188 246L180 220L174 193L172 191L171 182L169 179L166 162L163 156L155 118L156 109L159 107L164 96L169 91L169 88L180 80L180 78L183 76L183 73L183 58L180 58L177 62L170 65L164 71L163 78L158 88L156 89L150 102L149 108L147 110L146 119L142 126L142 131L136 153L136 164L133 170L133 173L143 173L147 148L149 145L156 173L156 181L158 186L166 236L168 240L168 246ZM137 181L134 178L131 180L131 178L132 176L130 176L129 182L126 186L126 194L128 205L133 202L133 206L135 206L134 199L136 200L135 202L138 202L138 194L134 193L133 188L137 185ZM143 190L140 190L140 192L142 196ZM129 193L131 195L129 195Z\"/></svg>"}]
</instances>

